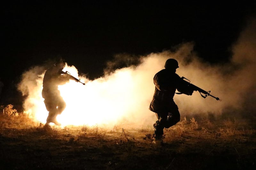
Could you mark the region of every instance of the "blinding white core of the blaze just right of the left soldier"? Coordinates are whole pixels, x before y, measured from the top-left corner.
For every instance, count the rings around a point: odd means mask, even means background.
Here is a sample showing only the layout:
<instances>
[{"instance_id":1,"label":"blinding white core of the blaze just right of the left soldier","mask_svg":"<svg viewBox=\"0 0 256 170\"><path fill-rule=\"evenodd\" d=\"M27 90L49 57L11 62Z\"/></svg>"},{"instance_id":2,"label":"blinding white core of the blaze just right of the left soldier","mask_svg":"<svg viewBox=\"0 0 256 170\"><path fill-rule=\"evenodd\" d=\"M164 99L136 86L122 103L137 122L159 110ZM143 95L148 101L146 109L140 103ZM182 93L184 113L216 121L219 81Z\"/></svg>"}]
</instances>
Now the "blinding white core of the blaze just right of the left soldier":
<instances>
[{"instance_id":1,"label":"blinding white core of the blaze just right of the left soldier","mask_svg":"<svg viewBox=\"0 0 256 170\"><path fill-rule=\"evenodd\" d=\"M70 81L59 86L67 107L58 120L62 124L73 125L115 123L129 107L126 102L132 97L131 82L131 74L119 70L107 80L100 78L86 85Z\"/></svg>"}]
</instances>

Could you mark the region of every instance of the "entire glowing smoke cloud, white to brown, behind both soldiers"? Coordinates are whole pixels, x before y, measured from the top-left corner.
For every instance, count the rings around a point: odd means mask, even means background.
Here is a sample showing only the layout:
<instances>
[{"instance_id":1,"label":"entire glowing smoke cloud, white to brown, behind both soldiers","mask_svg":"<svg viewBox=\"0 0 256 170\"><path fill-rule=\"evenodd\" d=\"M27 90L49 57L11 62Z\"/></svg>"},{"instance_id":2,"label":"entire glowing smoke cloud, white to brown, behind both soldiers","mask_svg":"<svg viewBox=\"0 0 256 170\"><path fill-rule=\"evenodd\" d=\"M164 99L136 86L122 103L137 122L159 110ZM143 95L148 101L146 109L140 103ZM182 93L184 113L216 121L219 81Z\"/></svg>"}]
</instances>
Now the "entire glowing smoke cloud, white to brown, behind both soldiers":
<instances>
[{"instance_id":1,"label":"entire glowing smoke cloud, white to brown, behind both soldiers","mask_svg":"<svg viewBox=\"0 0 256 170\"><path fill-rule=\"evenodd\" d=\"M206 91L211 90L213 96L222 100L220 102L210 96L204 99L198 92L194 92L192 96L176 94L174 101L181 116L201 113L220 115L228 109L239 110L249 99L252 103L255 102L255 26L255 20L248 22L248 26L232 46L233 58L225 65L202 62L193 51L192 42L178 45L175 51L140 56L138 64L111 72L105 71L104 76L95 80L79 76L76 67L67 63L63 70L80 78L86 85L70 80L59 86L67 107L58 115L57 120L64 126L113 127L116 124L132 123L133 126L151 127L156 121L155 114L148 110L155 89L153 77L156 72L164 69L168 58L175 58L179 62L180 68L176 73L180 77L188 78L192 84ZM23 73L19 84L19 90L27 95L24 101L25 111L42 123L46 122L48 115L41 95L45 71L44 68L35 66ZM248 106L252 107L250 110L255 110L253 104L247 104L246 107Z\"/></svg>"}]
</instances>

